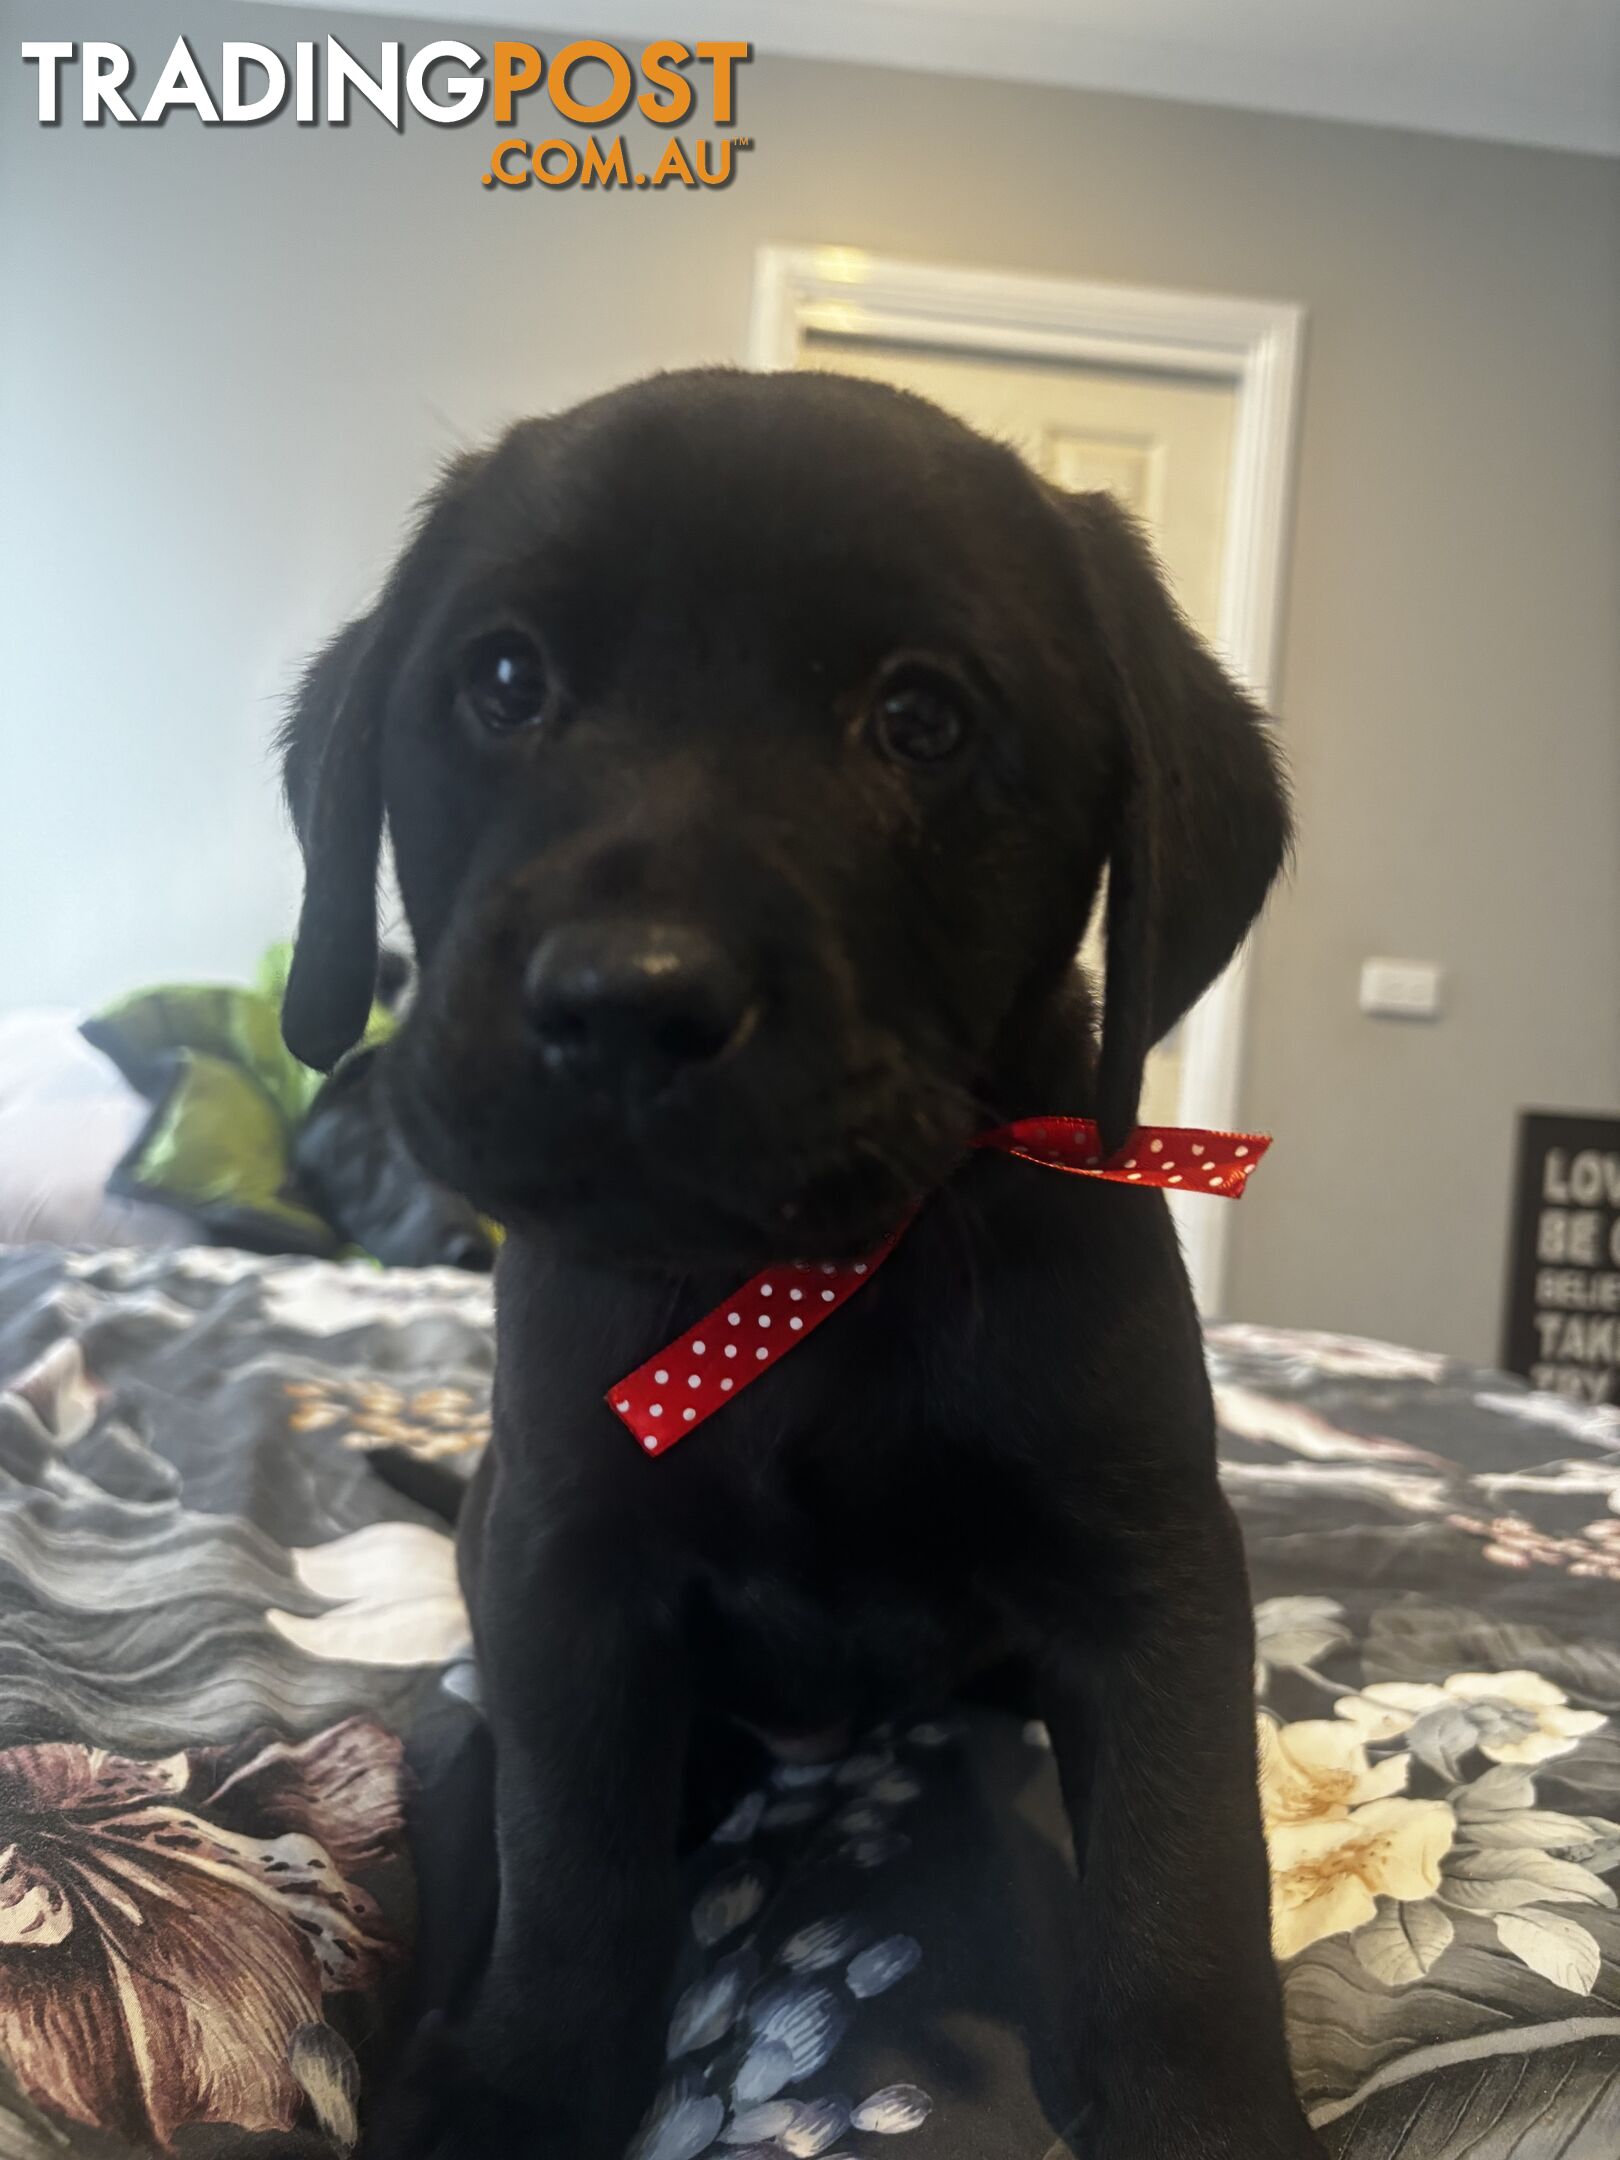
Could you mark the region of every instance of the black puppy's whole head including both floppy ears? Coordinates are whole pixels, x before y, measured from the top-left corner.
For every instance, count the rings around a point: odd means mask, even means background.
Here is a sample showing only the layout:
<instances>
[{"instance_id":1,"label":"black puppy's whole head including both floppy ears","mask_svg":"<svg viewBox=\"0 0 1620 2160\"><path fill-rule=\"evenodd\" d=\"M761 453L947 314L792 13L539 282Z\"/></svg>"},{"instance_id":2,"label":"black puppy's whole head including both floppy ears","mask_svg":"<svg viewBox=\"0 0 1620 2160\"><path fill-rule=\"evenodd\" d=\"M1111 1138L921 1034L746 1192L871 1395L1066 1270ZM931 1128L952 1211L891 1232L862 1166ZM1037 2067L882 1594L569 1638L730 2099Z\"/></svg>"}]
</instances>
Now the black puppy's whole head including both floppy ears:
<instances>
[{"instance_id":1,"label":"black puppy's whole head including both floppy ears","mask_svg":"<svg viewBox=\"0 0 1620 2160\"><path fill-rule=\"evenodd\" d=\"M1104 866L1121 1138L1287 842L1259 715L1121 512L836 376L661 376L464 458L285 743L289 1045L365 1024L387 819L413 1149L633 1259L892 1227L1017 1078Z\"/></svg>"}]
</instances>

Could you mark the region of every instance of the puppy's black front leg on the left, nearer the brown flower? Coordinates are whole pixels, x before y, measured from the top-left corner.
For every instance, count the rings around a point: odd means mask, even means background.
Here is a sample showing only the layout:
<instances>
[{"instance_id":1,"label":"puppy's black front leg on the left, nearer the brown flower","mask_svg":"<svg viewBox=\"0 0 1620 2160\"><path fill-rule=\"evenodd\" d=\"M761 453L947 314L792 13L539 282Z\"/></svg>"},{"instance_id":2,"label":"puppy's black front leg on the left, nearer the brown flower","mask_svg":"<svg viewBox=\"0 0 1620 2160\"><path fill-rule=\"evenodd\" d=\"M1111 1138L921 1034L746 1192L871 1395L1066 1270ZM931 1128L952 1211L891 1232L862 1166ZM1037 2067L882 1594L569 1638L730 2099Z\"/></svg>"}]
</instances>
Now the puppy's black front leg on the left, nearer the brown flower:
<instances>
[{"instance_id":1,"label":"puppy's black front leg on the left, nearer the brown flower","mask_svg":"<svg viewBox=\"0 0 1620 2160\"><path fill-rule=\"evenodd\" d=\"M680 1925L689 1711L670 1601L622 1544L490 1525L475 1596L499 1909L469 2011L408 2074L432 2160L620 2160L652 2097Z\"/></svg>"}]
</instances>

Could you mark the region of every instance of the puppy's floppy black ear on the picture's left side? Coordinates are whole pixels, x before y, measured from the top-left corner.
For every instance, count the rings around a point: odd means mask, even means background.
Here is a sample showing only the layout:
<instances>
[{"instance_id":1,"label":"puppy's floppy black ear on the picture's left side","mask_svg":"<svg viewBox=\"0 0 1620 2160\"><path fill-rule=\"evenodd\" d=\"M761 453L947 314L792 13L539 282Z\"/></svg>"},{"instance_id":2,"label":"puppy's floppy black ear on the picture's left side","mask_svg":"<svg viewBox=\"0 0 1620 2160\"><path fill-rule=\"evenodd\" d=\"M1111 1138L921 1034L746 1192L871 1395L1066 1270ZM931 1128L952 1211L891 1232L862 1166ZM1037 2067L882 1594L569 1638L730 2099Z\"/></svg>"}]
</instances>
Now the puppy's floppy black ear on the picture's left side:
<instances>
[{"instance_id":1,"label":"puppy's floppy black ear on the picture's left side","mask_svg":"<svg viewBox=\"0 0 1620 2160\"><path fill-rule=\"evenodd\" d=\"M296 1058L330 1071L361 1039L376 987L376 870L382 607L339 631L305 670L281 730L283 778L305 851L305 903L281 1032Z\"/></svg>"}]
</instances>

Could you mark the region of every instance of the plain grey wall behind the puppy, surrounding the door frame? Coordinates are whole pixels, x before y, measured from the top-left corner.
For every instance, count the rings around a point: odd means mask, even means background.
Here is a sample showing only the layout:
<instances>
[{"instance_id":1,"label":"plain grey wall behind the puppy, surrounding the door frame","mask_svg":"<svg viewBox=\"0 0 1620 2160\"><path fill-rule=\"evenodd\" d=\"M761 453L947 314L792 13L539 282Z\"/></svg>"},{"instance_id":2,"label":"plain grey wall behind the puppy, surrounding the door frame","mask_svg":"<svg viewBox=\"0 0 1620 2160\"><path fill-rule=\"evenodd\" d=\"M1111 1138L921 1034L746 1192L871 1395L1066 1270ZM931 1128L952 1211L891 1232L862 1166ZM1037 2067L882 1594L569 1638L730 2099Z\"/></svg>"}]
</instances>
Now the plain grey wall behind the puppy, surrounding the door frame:
<instances>
[{"instance_id":1,"label":"plain grey wall behind the puppy, surrounding the door frame","mask_svg":"<svg viewBox=\"0 0 1620 2160\"><path fill-rule=\"evenodd\" d=\"M1231 1309L1490 1354L1518 1104L1620 1104L1620 164L760 60L726 194L503 194L488 125L41 130L19 37L423 24L0 4L0 1004L240 972L296 873L264 741L456 441L741 356L762 240L1279 296L1309 363L1302 821ZM544 39L542 39L544 41ZM1359 1017L1367 953L1447 970Z\"/></svg>"}]
</instances>

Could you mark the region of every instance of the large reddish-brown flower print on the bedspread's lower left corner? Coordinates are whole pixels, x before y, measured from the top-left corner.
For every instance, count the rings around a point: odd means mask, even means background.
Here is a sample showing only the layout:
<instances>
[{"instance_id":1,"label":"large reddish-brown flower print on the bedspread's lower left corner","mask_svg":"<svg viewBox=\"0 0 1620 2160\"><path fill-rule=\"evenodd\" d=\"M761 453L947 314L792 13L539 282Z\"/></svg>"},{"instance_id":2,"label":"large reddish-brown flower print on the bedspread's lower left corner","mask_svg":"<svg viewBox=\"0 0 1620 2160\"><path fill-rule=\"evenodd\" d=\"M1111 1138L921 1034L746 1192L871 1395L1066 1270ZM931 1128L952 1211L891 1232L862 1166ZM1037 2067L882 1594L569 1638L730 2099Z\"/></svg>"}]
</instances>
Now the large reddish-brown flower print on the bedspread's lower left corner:
<instances>
[{"instance_id":1,"label":"large reddish-brown flower print on the bedspread's lower left corner","mask_svg":"<svg viewBox=\"0 0 1620 2160\"><path fill-rule=\"evenodd\" d=\"M359 1879L400 1823L400 1741L359 1717L162 1760L4 1750L0 2052L22 2093L138 2149L190 2123L289 2130L294 2039L330 1996L374 2004L400 1955Z\"/></svg>"}]
</instances>

